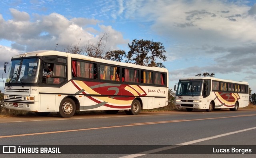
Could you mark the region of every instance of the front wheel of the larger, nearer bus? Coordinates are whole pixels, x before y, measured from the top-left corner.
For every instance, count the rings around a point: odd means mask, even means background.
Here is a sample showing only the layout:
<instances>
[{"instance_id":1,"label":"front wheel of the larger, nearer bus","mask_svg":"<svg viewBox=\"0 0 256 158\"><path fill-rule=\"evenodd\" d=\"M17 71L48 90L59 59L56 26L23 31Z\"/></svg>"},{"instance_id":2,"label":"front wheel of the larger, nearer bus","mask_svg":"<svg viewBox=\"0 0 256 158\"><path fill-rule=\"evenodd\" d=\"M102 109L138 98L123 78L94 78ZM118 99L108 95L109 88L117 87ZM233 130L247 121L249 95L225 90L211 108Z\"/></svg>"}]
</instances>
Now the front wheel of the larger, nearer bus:
<instances>
[{"instance_id":1,"label":"front wheel of the larger, nearer bus","mask_svg":"<svg viewBox=\"0 0 256 158\"><path fill-rule=\"evenodd\" d=\"M76 104L74 100L70 98L65 98L64 100L62 100L62 102L60 103L60 108L58 112L58 115L60 117L70 118L75 114L75 112L76 112Z\"/></svg>"}]
</instances>

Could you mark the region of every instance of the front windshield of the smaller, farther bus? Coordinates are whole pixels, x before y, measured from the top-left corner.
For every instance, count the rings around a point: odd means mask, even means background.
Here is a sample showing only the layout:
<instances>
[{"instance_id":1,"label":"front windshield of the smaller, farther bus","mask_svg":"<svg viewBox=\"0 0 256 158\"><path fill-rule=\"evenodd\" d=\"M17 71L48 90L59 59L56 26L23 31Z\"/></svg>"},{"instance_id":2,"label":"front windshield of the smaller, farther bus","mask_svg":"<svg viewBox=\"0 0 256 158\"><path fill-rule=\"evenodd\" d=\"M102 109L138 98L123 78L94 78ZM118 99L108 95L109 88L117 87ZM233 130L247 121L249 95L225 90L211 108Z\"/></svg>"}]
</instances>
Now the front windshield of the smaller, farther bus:
<instances>
[{"instance_id":1,"label":"front windshield of the smaller, farther bus","mask_svg":"<svg viewBox=\"0 0 256 158\"><path fill-rule=\"evenodd\" d=\"M202 96L203 80L180 80L176 96Z\"/></svg>"}]
</instances>

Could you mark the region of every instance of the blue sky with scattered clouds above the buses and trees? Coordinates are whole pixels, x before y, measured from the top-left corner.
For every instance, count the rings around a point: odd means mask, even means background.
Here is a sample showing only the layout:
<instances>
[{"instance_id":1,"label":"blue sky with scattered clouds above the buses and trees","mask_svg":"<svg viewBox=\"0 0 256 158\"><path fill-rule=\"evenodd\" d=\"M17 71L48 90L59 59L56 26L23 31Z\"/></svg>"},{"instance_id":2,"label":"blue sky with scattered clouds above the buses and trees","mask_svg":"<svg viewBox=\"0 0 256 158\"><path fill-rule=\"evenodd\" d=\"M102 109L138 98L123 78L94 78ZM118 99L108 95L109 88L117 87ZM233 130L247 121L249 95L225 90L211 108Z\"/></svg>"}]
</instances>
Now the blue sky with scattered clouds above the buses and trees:
<instances>
[{"instance_id":1,"label":"blue sky with scattered clouds above the buses and trees","mask_svg":"<svg viewBox=\"0 0 256 158\"><path fill-rule=\"evenodd\" d=\"M134 39L162 42L169 87L198 73L247 81L256 93L255 0L1 0L0 73L11 56L86 46L108 33L105 50ZM2 82L1 82L2 83ZM3 90L3 84L0 84Z\"/></svg>"}]
</instances>

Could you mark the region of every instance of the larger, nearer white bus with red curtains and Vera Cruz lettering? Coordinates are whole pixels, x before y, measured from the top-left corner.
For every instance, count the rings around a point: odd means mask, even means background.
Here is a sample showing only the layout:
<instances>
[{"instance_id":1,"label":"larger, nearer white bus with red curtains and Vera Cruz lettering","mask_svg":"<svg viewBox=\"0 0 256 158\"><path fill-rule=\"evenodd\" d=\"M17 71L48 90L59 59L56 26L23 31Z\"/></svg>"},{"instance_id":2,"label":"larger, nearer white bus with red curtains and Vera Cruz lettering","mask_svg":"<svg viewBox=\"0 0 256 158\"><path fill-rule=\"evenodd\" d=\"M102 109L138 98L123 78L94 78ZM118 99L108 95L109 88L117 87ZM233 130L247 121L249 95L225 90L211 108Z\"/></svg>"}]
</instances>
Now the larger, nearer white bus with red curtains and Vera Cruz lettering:
<instances>
[{"instance_id":1,"label":"larger, nearer white bus with red curtains and Vera Cruz lettering","mask_svg":"<svg viewBox=\"0 0 256 158\"><path fill-rule=\"evenodd\" d=\"M52 50L13 56L5 83L6 108L38 115L71 117L76 110L136 115L167 104L166 68Z\"/></svg>"}]
</instances>

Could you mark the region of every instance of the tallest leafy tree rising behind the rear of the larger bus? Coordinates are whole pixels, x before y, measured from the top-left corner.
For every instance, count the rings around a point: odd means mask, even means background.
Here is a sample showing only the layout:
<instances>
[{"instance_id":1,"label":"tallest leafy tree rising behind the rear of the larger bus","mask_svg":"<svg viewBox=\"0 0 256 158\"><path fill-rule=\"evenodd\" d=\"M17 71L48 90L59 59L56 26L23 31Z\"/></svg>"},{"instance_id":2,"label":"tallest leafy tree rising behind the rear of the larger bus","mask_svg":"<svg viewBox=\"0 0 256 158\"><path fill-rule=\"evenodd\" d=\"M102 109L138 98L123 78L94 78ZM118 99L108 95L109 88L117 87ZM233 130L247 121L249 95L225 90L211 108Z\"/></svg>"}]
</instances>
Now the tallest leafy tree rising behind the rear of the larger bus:
<instances>
[{"instance_id":1,"label":"tallest leafy tree rising behind the rear of the larger bus","mask_svg":"<svg viewBox=\"0 0 256 158\"><path fill-rule=\"evenodd\" d=\"M142 66L158 66L164 67L161 62L156 62L156 58L166 61L166 52L161 42L153 42L150 40L136 40L132 44L128 44L130 51L127 54L127 63L134 63Z\"/></svg>"}]
</instances>

